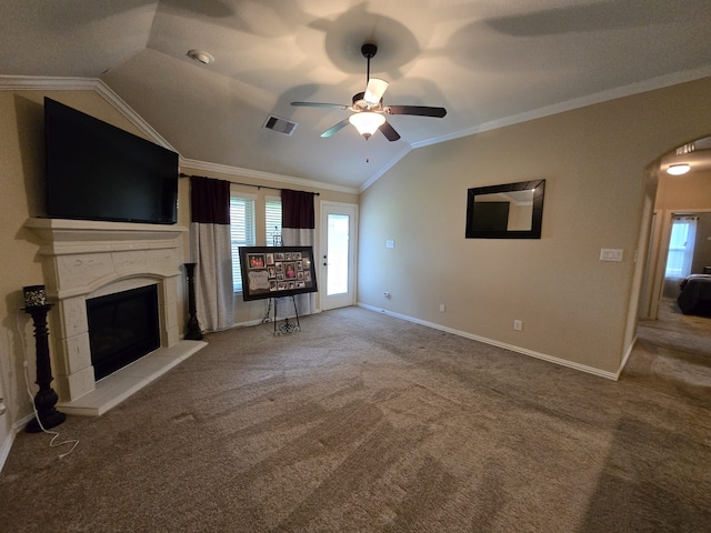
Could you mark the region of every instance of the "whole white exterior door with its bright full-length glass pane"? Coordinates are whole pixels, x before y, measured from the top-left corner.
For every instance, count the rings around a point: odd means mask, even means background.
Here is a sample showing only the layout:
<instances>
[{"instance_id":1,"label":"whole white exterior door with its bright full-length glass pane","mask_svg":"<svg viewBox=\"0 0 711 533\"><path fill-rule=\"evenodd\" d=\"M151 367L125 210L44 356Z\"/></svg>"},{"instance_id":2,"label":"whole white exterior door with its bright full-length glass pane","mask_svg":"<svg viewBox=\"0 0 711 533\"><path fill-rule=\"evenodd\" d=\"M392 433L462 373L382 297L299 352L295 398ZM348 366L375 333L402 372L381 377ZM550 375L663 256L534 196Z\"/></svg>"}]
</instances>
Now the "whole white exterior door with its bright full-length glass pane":
<instances>
[{"instance_id":1,"label":"whole white exterior door with its bright full-length glass pane","mask_svg":"<svg viewBox=\"0 0 711 533\"><path fill-rule=\"evenodd\" d=\"M320 258L321 309L356 303L356 250L358 250L358 205L321 202Z\"/></svg>"}]
</instances>

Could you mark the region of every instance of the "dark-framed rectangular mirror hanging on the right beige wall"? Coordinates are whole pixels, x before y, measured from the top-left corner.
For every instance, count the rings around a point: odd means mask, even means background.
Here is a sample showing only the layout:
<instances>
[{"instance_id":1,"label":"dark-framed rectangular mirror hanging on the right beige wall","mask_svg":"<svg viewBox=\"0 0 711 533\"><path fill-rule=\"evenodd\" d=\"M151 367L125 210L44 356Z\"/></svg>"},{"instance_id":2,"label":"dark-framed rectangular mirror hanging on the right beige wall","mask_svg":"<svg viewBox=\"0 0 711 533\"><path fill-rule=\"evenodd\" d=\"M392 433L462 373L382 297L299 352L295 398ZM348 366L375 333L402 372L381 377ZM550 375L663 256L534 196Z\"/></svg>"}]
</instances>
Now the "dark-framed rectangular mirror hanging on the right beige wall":
<instances>
[{"instance_id":1,"label":"dark-framed rectangular mirror hanging on the right beige wall","mask_svg":"<svg viewBox=\"0 0 711 533\"><path fill-rule=\"evenodd\" d=\"M467 191L467 239L540 239L545 180Z\"/></svg>"}]
</instances>

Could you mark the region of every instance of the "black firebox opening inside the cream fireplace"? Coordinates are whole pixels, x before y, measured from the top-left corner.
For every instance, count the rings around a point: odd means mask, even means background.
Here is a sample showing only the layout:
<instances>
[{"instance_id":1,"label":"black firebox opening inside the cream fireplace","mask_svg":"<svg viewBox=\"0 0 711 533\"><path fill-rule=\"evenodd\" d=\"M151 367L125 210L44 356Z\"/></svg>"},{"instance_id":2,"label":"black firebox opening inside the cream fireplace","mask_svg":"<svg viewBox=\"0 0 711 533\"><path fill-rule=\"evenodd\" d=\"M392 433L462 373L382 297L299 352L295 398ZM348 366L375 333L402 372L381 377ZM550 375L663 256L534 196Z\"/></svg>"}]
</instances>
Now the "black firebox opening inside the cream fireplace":
<instances>
[{"instance_id":1,"label":"black firebox opening inside the cream fireplace","mask_svg":"<svg viewBox=\"0 0 711 533\"><path fill-rule=\"evenodd\" d=\"M156 284L87 300L97 381L160 348L158 311Z\"/></svg>"}]
</instances>

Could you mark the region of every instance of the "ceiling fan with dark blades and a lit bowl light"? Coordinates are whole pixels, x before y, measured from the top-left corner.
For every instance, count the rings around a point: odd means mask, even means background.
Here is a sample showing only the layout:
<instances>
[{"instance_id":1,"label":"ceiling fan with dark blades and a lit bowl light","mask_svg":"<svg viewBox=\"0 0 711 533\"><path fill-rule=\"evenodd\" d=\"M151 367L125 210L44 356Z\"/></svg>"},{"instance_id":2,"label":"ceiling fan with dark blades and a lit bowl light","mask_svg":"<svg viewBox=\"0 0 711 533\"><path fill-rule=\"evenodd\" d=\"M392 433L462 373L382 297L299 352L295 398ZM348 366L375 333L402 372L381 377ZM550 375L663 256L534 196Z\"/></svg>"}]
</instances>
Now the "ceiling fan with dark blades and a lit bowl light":
<instances>
[{"instance_id":1,"label":"ceiling fan with dark blades and a lit bowl light","mask_svg":"<svg viewBox=\"0 0 711 533\"><path fill-rule=\"evenodd\" d=\"M377 78L370 78L370 60L378 52L378 47L373 43L367 42L361 47L360 51L368 60L367 84L364 92L359 92L353 95L351 105L344 105L341 103L291 102L292 105L309 108L338 108L341 110L353 111L353 114L326 130L321 133L321 137L331 137L333 133L342 130L351 123L365 139L369 139L375 131L380 130L389 141L397 141L400 139L400 134L385 120L385 114L411 114L417 117L435 118L442 118L447 114L447 110L444 108L432 108L429 105L383 105L382 95L384 94L385 89L388 89L388 82Z\"/></svg>"}]
</instances>

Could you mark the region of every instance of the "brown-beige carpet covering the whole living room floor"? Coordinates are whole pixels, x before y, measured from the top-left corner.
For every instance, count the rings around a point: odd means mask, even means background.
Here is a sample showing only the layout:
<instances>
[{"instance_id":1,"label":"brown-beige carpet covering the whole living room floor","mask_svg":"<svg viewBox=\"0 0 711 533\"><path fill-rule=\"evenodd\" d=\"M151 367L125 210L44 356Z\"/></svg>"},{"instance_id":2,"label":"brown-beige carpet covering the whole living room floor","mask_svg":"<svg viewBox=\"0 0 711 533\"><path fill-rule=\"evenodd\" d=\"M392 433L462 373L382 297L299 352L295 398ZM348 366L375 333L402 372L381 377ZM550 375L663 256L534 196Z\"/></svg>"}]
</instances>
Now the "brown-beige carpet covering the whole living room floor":
<instances>
[{"instance_id":1,"label":"brown-beige carpet covering the whole living room floor","mask_svg":"<svg viewBox=\"0 0 711 533\"><path fill-rule=\"evenodd\" d=\"M3 532L707 532L711 350L619 382L347 308L211 334L58 459L18 434Z\"/></svg>"}]
</instances>

